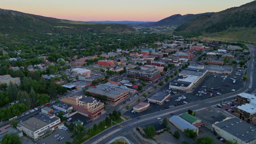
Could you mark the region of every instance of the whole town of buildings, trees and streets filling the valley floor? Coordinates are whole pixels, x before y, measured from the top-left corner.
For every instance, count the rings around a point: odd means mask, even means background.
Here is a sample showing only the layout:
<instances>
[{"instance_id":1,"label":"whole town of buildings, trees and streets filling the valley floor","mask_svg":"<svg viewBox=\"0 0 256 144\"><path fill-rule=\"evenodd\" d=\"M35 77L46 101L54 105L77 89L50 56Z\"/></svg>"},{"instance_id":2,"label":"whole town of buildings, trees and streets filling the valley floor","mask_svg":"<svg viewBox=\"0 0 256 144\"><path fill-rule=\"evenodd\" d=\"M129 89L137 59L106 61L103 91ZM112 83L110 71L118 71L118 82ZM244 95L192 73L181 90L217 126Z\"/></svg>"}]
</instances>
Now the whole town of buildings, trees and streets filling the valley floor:
<instances>
[{"instance_id":1,"label":"whole town of buildings, trees and streets filling the valley floor","mask_svg":"<svg viewBox=\"0 0 256 144\"><path fill-rule=\"evenodd\" d=\"M126 43L113 41L104 47ZM256 142L254 45L174 35L129 49L96 45L101 53L65 45L60 53L38 45L40 54L31 56L2 45L0 137L15 133L26 144Z\"/></svg>"}]
</instances>

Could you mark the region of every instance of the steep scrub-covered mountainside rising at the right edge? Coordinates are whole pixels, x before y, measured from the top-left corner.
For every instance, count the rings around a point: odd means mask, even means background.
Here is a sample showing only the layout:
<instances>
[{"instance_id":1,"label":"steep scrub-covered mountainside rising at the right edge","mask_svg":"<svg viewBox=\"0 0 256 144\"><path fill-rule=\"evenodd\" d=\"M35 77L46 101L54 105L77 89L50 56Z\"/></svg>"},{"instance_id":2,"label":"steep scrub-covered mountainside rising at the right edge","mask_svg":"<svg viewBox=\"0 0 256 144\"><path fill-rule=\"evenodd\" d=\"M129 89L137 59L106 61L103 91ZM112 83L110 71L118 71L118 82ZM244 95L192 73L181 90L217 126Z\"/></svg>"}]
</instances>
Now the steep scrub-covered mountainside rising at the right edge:
<instances>
[{"instance_id":1,"label":"steep scrub-covered mountainside rising at the right edge","mask_svg":"<svg viewBox=\"0 0 256 144\"><path fill-rule=\"evenodd\" d=\"M210 16L199 16L182 24L176 32L180 33L233 33L240 36L253 30L255 37L256 1L232 7Z\"/></svg>"}]
</instances>

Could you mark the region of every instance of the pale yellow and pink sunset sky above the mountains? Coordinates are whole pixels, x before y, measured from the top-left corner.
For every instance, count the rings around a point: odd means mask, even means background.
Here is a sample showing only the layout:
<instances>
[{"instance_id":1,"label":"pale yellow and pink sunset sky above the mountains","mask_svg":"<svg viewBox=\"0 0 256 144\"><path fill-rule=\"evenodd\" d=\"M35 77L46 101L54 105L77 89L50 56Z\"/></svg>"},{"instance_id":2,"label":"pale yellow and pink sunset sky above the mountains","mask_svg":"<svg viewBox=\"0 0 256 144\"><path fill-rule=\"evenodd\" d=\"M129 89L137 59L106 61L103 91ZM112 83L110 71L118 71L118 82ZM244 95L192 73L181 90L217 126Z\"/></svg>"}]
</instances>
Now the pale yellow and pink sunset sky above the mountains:
<instances>
[{"instance_id":1,"label":"pale yellow and pink sunset sky above the mountains","mask_svg":"<svg viewBox=\"0 0 256 144\"><path fill-rule=\"evenodd\" d=\"M0 8L76 21L159 21L218 12L253 0L1 0Z\"/></svg>"}]
</instances>

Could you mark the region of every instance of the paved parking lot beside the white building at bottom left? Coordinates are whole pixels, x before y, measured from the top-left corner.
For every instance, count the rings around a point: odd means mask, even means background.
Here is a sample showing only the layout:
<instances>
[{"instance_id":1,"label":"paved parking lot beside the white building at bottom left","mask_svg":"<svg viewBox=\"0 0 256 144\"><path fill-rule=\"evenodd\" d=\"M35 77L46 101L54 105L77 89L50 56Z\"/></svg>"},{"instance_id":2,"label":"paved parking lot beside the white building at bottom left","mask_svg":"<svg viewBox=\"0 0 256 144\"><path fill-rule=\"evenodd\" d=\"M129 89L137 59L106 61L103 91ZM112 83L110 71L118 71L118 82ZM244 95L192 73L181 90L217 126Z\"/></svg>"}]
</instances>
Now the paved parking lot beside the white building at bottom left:
<instances>
[{"instance_id":1,"label":"paved parking lot beside the white building at bottom left","mask_svg":"<svg viewBox=\"0 0 256 144\"><path fill-rule=\"evenodd\" d=\"M54 138L56 134L59 134L59 136L64 137L64 139L57 142L57 138ZM73 141L73 139L70 136L72 136L72 132L68 133L68 130L64 131L61 129L57 129L53 134L51 134L48 137L45 137L42 140L39 140L38 142L45 142L46 144L65 144L66 141Z\"/></svg>"}]
</instances>

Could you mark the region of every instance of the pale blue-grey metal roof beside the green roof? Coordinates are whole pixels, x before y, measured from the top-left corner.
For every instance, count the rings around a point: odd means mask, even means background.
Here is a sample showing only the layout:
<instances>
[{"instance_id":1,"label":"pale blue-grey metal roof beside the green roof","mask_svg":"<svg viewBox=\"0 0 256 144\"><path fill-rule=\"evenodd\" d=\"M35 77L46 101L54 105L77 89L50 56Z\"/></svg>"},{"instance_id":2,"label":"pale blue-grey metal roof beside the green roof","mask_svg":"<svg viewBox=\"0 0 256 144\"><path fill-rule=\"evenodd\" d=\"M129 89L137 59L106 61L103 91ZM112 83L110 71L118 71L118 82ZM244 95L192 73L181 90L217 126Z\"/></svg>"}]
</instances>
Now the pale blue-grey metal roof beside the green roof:
<instances>
[{"instance_id":1,"label":"pale blue-grey metal roof beside the green roof","mask_svg":"<svg viewBox=\"0 0 256 144\"><path fill-rule=\"evenodd\" d=\"M191 123L187 122L186 120L182 119L179 116L172 116L172 117L169 118L169 121L172 121L172 122L176 123L182 129L187 129L187 128L191 129L191 130L197 129L197 127L193 126Z\"/></svg>"}]
</instances>

